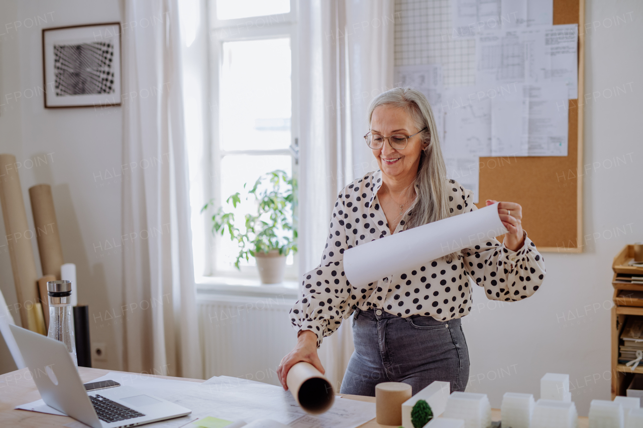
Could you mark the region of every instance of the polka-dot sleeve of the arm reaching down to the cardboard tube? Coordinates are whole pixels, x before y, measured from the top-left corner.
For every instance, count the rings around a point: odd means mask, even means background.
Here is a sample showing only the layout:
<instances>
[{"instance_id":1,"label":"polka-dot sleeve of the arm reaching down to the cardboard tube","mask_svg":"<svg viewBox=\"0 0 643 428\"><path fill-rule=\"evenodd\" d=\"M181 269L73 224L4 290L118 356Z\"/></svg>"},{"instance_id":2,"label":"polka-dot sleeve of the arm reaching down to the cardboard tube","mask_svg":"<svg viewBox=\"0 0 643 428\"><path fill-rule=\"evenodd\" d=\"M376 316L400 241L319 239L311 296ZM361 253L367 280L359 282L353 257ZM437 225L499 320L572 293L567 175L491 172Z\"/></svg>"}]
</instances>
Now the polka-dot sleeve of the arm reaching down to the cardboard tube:
<instances>
[{"instance_id":1,"label":"polka-dot sleeve of the arm reaching down to the cardboard tube","mask_svg":"<svg viewBox=\"0 0 643 428\"><path fill-rule=\"evenodd\" d=\"M293 327L298 331L311 330L317 335L318 347L321 339L337 330L342 318L353 312L350 308L350 284L344 276L343 254L348 249L344 209L345 201L340 193L332 210L321 263L303 276L302 295L290 310Z\"/></svg>"}]
</instances>

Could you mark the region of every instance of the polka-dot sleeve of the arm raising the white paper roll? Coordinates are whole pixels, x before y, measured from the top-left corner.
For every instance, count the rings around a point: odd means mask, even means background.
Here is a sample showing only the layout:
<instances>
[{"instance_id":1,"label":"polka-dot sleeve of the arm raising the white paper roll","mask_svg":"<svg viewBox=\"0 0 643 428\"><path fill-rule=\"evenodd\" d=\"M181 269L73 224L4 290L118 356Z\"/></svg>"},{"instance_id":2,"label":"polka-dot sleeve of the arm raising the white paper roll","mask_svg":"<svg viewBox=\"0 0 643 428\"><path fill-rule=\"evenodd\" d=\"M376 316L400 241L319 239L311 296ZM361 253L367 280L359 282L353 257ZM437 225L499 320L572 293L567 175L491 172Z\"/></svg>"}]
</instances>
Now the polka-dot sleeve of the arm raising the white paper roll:
<instances>
[{"instance_id":1,"label":"polka-dot sleeve of the arm raising the white paper roll","mask_svg":"<svg viewBox=\"0 0 643 428\"><path fill-rule=\"evenodd\" d=\"M471 210L473 192L466 190L466 201ZM484 287L487 299L516 301L528 298L543 283L545 261L523 231L525 244L512 251L493 238L473 248L464 249L467 273L480 287Z\"/></svg>"}]
</instances>

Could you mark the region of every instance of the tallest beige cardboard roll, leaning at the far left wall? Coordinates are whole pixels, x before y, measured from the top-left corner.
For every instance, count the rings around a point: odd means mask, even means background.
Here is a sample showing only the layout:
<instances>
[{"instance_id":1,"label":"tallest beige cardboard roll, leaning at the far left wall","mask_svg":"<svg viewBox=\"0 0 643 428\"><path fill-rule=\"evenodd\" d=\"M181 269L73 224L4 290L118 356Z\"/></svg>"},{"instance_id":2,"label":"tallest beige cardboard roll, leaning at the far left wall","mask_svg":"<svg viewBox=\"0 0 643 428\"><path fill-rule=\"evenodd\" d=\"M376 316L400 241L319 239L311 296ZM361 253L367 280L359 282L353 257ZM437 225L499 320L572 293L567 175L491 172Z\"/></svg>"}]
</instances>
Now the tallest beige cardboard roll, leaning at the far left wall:
<instances>
[{"instance_id":1,"label":"tallest beige cardboard roll, leaning at the far left wall","mask_svg":"<svg viewBox=\"0 0 643 428\"><path fill-rule=\"evenodd\" d=\"M17 165L14 155L0 154L0 204L5 220L11 269L14 272L20 321L23 327L38 332L44 326L37 325L38 317L33 314L30 316L30 311L38 303L38 274L32 250L34 234L27 222Z\"/></svg>"}]
</instances>

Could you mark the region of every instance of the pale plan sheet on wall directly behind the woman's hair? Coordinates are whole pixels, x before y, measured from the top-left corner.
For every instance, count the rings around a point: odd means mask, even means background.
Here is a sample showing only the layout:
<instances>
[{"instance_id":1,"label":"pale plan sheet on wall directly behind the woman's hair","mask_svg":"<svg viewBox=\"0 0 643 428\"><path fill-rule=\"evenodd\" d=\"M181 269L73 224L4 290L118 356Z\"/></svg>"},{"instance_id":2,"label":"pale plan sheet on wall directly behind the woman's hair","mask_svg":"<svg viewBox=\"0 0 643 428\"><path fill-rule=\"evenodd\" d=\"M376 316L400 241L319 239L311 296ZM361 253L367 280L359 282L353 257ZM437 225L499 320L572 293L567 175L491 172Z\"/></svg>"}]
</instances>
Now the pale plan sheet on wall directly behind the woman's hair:
<instances>
[{"instance_id":1,"label":"pale plan sheet on wall directly behind the woman's hair","mask_svg":"<svg viewBox=\"0 0 643 428\"><path fill-rule=\"evenodd\" d=\"M410 86L423 93L429 100L439 139L444 136L444 114L442 105L442 66L440 64L421 64L416 66L395 67L395 87Z\"/></svg>"}]
</instances>

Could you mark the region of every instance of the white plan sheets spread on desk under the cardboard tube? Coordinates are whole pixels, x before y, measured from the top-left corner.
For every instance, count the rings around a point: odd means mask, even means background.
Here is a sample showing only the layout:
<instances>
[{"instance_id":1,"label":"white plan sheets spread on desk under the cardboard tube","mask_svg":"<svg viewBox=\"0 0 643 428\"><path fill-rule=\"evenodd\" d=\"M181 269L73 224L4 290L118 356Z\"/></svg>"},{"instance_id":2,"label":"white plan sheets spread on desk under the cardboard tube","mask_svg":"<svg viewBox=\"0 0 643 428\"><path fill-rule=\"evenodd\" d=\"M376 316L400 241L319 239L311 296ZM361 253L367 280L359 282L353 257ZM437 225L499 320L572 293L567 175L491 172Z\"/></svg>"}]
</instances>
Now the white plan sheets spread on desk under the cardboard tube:
<instances>
[{"instance_id":1,"label":"white plan sheets spread on desk under the cardboard tube","mask_svg":"<svg viewBox=\"0 0 643 428\"><path fill-rule=\"evenodd\" d=\"M206 383L207 382L207 383ZM321 415L309 415L289 391L279 386L212 378L194 388L181 391L171 401L192 409L198 418L217 418L252 422L269 418L293 428L355 428L375 417L375 404L335 398Z\"/></svg>"}]
</instances>

